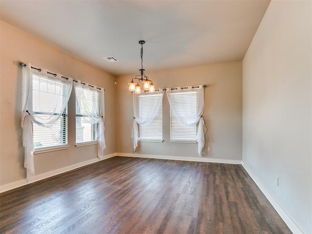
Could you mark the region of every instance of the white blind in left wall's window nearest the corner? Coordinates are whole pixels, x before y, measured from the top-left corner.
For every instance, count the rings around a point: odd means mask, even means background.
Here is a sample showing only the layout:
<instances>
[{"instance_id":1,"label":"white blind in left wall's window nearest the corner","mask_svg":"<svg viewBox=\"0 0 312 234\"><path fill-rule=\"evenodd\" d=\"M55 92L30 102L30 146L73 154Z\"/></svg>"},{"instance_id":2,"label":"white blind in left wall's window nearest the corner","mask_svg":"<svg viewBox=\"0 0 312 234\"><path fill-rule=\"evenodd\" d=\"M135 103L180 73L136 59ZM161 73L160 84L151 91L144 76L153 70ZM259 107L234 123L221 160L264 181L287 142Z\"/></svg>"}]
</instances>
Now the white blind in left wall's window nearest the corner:
<instances>
[{"instance_id":1,"label":"white blind in left wall's window nearest the corner","mask_svg":"<svg viewBox=\"0 0 312 234\"><path fill-rule=\"evenodd\" d=\"M100 93L89 92L88 89L82 91L85 106L90 109L81 109L76 98L76 143L96 141L98 137L98 124L90 123L88 113L99 115Z\"/></svg>"}]
</instances>

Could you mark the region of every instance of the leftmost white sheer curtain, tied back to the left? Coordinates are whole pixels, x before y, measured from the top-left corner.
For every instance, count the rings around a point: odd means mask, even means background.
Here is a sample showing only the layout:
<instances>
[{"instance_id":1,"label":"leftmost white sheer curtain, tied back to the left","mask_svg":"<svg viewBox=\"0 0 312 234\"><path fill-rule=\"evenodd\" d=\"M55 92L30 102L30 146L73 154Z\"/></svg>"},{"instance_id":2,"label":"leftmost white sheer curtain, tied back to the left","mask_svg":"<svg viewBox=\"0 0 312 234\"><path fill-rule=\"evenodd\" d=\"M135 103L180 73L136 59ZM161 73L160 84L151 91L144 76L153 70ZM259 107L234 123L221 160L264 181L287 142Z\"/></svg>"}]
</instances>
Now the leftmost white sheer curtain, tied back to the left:
<instances>
[{"instance_id":1,"label":"leftmost white sheer curtain, tied back to the left","mask_svg":"<svg viewBox=\"0 0 312 234\"><path fill-rule=\"evenodd\" d=\"M36 82L33 82L35 80ZM22 69L21 127L25 147L24 167L27 169L28 180L35 175L32 123L43 127L50 127L56 123L67 106L72 87L72 78L49 74L45 69L37 71L31 68L30 63Z\"/></svg>"}]
</instances>

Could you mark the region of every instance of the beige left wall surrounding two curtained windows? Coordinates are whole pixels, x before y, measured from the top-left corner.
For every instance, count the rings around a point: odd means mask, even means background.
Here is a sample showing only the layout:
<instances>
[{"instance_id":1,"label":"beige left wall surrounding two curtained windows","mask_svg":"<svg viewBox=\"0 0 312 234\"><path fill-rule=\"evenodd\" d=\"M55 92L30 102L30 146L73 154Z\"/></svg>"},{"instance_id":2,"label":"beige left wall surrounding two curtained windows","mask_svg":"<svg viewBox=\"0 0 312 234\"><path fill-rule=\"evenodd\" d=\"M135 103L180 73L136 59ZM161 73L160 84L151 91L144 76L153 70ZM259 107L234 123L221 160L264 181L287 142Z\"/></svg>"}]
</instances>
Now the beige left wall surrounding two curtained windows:
<instances>
[{"instance_id":1,"label":"beige left wall surrounding two curtained windows","mask_svg":"<svg viewBox=\"0 0 312 234\"><path fill-rule=\"evenodd\" d=\"M63 76L105 88L105 155L116 152L115 85L112 75L82 62L0 21L0 185L24 179L24 149L20 127L21 78L19 60ZM68 104L67 150L35 155L36 175L97 157L97 145L75 147L75 98Z\"/></svg>"}]
</instances>

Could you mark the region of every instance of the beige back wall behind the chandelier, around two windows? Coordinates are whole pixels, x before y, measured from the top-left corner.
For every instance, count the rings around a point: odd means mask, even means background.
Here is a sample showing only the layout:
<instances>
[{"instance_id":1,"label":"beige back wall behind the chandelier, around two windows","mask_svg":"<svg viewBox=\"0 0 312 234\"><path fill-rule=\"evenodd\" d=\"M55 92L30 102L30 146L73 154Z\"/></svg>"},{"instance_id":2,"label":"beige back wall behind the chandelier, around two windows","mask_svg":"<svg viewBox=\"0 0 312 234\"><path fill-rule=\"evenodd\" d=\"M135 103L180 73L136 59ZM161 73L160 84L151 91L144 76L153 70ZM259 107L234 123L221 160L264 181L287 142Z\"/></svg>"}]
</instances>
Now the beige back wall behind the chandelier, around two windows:
<instances>
[{"instance_id":1,"label":"beige back wall behind the chandelier, around two windows","mask_svg":"<svg viewBox=\"0 0 312 234\"><path fill-rule=\"evenodd\" d=\"M242 62L150 72L146 74L156 88L207 84L204 119L208 131L203 156L216 159L242 159ZM133 154L132 94L127 83L133 75L117 77L116 135L117 153ZM197 144L170 143L170 109L166 93L163 98L164 142L140 142L136 154L199 157ZM211 147L211 152L207 147Z\"/></svg>"}]
</instances>

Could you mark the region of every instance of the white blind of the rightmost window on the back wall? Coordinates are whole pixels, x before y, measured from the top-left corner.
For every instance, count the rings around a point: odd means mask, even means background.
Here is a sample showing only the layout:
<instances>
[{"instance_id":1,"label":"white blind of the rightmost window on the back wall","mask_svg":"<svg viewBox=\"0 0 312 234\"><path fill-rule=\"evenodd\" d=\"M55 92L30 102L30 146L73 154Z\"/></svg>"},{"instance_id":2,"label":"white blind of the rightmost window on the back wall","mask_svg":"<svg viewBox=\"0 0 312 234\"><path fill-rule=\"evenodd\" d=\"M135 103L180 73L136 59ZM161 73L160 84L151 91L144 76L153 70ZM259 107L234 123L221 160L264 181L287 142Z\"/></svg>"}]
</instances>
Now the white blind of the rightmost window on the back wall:
<instances>
[{"instance_id":1,"label":"white blind of the rightmost window on the back wall","mask_svg":"<svg viewBox=\"0 0 312 234\"><path fill-rule=\"evenodd\" d=\"M177 114L196 116L196 92L171 93L171 102L175 105ZM170 140L196 142L196 124L188 126L182 123L170 108Z\"/></svg>"}]
</instances>

